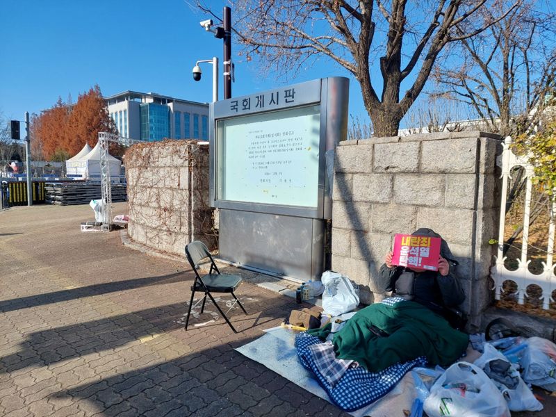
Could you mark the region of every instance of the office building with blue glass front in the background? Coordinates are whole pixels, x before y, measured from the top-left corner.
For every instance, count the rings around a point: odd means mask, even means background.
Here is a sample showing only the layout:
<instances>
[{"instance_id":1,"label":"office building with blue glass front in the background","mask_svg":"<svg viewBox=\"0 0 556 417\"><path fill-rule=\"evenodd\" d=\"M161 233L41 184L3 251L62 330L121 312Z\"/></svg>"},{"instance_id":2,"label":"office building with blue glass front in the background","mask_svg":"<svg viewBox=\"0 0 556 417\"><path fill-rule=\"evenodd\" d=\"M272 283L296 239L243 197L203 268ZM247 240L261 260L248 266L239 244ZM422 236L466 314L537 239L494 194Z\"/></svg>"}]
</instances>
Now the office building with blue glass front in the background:
<instances>
[{"instance_id":1,"label":"office building with blue glass front in the background","mask_svg":"<svg viewBox=\"0 0 556 417\"><path fill-rule=\"evenodd\" d=\"M170 139L208 140L208 104L126 91L105 97L120 136L154 142Z\"/></svg>"}]
</instances>

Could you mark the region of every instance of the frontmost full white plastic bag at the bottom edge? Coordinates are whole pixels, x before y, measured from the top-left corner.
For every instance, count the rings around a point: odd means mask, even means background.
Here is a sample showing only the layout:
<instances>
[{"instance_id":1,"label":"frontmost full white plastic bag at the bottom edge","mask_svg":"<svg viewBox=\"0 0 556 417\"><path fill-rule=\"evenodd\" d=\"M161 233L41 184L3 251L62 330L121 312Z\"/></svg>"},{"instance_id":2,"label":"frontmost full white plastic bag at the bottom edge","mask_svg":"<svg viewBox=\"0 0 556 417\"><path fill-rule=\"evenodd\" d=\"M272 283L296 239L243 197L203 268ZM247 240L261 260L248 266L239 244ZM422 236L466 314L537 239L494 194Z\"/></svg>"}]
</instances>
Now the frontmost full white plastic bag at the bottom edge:
<instances>
[{"instance_id":1,"label":"frontmost full white plastic bag at the bottom edge","mask_svg":"<svg viewBox=\"0 0 556 417\"><path fill-rule=\"evenodd\" d=\"M424 410L430 417L510 417L502 393L473 363L457 362L432 385Z\"/></svg>"}]
</instances>

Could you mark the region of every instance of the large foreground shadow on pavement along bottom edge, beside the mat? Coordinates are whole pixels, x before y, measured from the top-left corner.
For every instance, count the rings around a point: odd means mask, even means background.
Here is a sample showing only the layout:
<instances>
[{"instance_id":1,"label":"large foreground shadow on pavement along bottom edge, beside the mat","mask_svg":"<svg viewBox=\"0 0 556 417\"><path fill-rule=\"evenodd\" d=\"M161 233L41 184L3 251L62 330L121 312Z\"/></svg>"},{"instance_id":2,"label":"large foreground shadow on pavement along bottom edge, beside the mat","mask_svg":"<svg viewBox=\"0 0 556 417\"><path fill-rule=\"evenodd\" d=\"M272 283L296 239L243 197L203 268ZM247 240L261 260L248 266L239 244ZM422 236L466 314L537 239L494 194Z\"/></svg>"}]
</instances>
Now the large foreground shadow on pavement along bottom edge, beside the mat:
<instances>
[{"instance_id":1,"label":"large foreground shadow on pavement along bottom edge, beside the mat","mask_svg":"<svg viewBox=\"0 0 556 417\"><path fill-rule=\"evenodd\" d=\"M65 415L87 409L99 416L348 416L229 344L81 384L49 398L52 404L69 400L74 403L64 409Z\"/></svg>"}]
</instances>

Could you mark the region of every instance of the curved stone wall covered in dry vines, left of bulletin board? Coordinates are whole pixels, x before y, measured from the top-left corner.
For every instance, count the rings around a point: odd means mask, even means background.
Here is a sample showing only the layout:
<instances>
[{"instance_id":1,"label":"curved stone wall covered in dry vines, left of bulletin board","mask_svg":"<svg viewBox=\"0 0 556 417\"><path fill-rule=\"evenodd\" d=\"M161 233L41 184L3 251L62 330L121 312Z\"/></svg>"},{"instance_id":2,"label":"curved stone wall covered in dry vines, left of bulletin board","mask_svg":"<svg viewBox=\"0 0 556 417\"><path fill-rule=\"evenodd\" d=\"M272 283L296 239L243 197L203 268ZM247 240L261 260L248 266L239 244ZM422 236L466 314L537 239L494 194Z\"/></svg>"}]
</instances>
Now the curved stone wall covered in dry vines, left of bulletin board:
<instances>
[{"instance_id":1,"label":"curved stone wall covered in dry vines, left of bulletin board","mask_svg":"<svg viewBox=\"0 0 556 417\"><path fill-rule=\"evenodd\" d=\"M185 140L135 145L125 163L131 239L180 255L192 240L215 247L208 145Z\"/></svg>"}]
</instances>

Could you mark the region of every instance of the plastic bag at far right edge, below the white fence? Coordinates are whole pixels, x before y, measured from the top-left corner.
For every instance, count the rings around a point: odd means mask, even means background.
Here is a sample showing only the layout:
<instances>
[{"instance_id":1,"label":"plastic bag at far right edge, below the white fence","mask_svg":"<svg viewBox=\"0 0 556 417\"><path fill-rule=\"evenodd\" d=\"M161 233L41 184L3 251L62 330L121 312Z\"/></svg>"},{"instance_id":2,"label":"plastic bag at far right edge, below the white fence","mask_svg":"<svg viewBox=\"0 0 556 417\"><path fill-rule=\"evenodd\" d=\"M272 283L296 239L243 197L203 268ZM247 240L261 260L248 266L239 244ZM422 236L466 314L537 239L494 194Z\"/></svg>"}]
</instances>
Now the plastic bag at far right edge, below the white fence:
<instances>
[{"instance_id":1,"label":"plastic bag at far right edge, below the white fence","mask_svg":"<svg viewBox=\"0 0 556 417\"><path fill-rule=\"evenodd\" d=\"M530 337L519 363L528 384L556 391L556 345L541 337Z\"/></svg>"}]
</instances>

